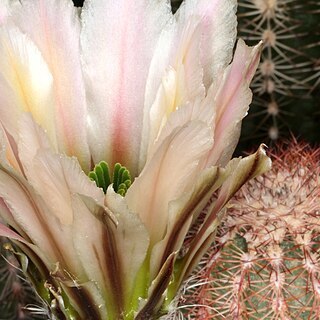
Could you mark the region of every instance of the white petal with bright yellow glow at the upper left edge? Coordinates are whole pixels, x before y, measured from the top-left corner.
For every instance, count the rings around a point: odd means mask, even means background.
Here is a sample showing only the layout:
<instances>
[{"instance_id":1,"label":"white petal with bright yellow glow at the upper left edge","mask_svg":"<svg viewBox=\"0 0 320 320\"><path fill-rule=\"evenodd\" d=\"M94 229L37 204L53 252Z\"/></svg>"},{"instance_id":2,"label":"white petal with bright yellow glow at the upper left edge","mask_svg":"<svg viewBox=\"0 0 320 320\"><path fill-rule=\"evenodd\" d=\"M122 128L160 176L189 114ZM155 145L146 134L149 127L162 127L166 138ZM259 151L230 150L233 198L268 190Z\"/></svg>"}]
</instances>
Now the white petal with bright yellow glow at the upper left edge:
<instances>
[{"instance_id":1,"label":"white petal with bright yellow glow at the upper left edge","mask_svg":"<svg viewBox=\"0 0 320 320\"><path fill-rule=\"evenodd\" d=\"M47 130L55 145L53 79L38 48L16 28L0 30L0 120L17 139L23 112Z\"/></svg>"}]
</instances>

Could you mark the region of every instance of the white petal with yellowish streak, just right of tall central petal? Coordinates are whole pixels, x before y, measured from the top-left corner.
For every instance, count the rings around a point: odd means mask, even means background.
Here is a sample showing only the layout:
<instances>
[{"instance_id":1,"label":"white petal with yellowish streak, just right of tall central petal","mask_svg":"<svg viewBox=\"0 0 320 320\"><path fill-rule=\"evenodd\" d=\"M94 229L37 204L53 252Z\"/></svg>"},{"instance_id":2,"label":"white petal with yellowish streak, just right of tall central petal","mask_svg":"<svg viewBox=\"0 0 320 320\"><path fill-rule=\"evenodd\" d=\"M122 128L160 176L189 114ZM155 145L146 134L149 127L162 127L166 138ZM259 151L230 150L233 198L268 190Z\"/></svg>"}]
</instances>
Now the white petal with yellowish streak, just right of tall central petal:
<instances>
[{"instance_id":1,"label":"white petal with yellowish streak, just right of tall central petal","mask_svg":"<svg viewBox=\"0 0 320 320\"><path fill-rule=\"evenodd\" d=\"M150 156L171 113L205 96L200 46L201 29L196 17L185 25L173 21L162 32L148 75L140 165L144 164L143 157Z\"/></svg>"}]
</instances>

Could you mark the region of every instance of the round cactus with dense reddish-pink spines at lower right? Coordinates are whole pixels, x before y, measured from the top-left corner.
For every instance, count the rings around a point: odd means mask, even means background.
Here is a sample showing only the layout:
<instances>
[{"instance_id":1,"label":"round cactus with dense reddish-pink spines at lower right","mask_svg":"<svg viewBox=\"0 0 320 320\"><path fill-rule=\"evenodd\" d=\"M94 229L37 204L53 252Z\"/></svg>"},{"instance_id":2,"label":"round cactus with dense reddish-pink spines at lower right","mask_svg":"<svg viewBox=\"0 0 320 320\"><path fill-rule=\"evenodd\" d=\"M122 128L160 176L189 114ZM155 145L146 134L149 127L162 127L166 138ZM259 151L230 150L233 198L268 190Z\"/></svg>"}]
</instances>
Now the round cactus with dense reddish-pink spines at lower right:
<instances>
[{"instance_id":1,"label":"round cactus with dense reddish-pink spines at lower right","mask_svg":"<svg viewBox=\"0 0 320 320\"><path fill-rule=\"evenodd\" d=\"M273 158L231 201L172 319L320 319L320 149Z\"/></svg>"}]
</instances>

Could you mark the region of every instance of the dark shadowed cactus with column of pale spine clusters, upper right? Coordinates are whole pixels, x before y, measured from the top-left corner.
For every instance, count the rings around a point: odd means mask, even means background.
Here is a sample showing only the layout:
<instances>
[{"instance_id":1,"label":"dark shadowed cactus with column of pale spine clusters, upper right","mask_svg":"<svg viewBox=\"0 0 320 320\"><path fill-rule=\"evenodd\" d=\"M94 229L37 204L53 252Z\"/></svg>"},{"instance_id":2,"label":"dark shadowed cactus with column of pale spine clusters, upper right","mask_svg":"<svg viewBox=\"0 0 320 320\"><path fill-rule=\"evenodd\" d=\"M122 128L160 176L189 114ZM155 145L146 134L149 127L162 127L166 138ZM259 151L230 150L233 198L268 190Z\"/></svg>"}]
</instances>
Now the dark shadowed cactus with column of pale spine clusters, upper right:
<instances>
[{"instance_id":1,"label":"dark shadowed cactus with column of pale spine clusters, upper right","mask_svg":"<svg viewBox=\"0 0 320 320\"><path fill-rule=\"evenodd\" d=\"M238 34L264 40L241 149L288 136L319 141L319 3L239 0ZM257 141L257 142L255 142Z\"/></svg>"}]
</instances>

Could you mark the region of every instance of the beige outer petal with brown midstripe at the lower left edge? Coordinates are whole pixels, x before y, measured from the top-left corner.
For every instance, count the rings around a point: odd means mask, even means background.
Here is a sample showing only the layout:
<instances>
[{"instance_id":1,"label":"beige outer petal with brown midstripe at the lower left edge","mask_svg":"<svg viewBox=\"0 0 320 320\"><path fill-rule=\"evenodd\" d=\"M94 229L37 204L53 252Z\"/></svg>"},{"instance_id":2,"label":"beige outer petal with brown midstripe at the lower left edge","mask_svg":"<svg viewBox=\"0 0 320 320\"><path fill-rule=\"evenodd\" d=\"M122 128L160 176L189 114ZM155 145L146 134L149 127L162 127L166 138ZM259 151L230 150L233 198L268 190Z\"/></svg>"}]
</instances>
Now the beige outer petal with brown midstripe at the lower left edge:
<instances>
[{"instance_id":1,"label":"beige outer petal with brown midstripe at the lower left edge","mask_svg":"<svg viewBox=\"0 0 320 320\"><path fill-rule=\"evenodd\" d=\"M29 183L4 165L0 165L0 198L11 213L7 222L13 220L12 226L19 226L17 231L33 245L31 249L41 257L48 270L53 272L59 264L61 274L65 270L82 274L71 227L62 225Z\"/></svg>"}]
</instances>

